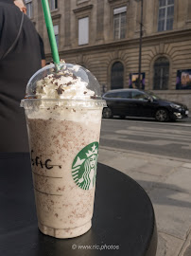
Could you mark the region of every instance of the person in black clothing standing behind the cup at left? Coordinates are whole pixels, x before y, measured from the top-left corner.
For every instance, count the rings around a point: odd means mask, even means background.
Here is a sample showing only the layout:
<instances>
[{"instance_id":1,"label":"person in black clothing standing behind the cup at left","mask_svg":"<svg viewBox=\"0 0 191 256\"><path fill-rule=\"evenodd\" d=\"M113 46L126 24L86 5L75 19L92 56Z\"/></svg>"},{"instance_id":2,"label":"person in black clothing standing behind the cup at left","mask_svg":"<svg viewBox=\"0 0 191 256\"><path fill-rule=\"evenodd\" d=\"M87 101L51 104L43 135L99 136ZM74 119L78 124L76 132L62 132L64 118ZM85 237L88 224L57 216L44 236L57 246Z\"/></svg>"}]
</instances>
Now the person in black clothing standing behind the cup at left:
<instances>
[{"instance_id":1,"label":"person in black clothing standing behind the cup at left","mask_svg":"<svg viewBox=\"0 0 191 256\"><path fill-rule=\"evenodd\" d=\"M12 0L0 0L0 152L28 152L20 101L26 83L41 68L38 33Z\"/></svg>"}]
</instances>

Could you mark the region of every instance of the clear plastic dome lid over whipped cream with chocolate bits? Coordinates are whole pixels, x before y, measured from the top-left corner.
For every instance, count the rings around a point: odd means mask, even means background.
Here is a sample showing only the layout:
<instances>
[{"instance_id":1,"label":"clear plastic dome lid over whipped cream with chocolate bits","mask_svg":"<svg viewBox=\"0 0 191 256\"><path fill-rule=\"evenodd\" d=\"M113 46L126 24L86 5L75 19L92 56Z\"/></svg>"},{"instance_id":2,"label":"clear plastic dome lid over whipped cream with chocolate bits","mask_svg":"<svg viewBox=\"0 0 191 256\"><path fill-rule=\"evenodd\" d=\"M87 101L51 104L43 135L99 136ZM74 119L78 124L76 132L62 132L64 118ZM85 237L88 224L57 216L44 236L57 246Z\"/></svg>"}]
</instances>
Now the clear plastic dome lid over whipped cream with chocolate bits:
<instances>
[{"instance_id":1,"label":"clear plastic dome lid over whipped cream with chocolate bits","mask_svg":"<svg viewBox=\"0 0 191 256\"><path fill-rule=\"evenodd\" d=\"M25 99L101 100L96 77L78 64L49 64L38 70L26 85Z\"/></svg>"}]
</instances>

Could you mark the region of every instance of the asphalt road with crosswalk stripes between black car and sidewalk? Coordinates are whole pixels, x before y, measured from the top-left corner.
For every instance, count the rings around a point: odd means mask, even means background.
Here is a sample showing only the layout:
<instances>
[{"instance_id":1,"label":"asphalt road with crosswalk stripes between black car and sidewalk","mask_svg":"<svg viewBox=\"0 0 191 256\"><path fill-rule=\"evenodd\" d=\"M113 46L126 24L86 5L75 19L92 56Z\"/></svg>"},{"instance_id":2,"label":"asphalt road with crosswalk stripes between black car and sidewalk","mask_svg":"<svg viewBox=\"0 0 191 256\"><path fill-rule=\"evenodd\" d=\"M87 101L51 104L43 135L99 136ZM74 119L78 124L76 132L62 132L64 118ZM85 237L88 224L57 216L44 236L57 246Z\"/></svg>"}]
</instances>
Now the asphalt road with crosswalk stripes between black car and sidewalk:
<instances>
[{"instance_id":1,"label":"asphalt road with crosswalk stripes between black car and sidewalk","mask_svg":"<svg viewBox=\"0 0 191 256\"><path fill-rule=\"evenodd\" d=\"M191 119L102 119L100 146L190 159Z\"/></svg>"}]
</instances>

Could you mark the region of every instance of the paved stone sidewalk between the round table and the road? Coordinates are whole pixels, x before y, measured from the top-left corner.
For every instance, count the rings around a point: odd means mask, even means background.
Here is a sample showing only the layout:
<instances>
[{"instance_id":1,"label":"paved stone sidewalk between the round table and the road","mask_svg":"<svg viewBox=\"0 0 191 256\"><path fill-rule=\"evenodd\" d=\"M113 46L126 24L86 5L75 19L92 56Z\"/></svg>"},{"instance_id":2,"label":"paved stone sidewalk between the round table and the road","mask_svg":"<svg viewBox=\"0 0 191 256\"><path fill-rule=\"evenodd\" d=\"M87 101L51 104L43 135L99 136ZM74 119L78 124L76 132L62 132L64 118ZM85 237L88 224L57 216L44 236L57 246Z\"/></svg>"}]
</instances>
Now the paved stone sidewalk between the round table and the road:
<instances>
[{"instance_id":1,"label":"paved stone sidewalk between the round table and the road","mask_svg":"<svg viewBox=\"0 0 191 256\"><path fill-rule=\"evenodd\" d=\"M157 256L191 255L191 160L99 148L98 162L130 175L152 201Z\"/></svg>"}]
</instances>

